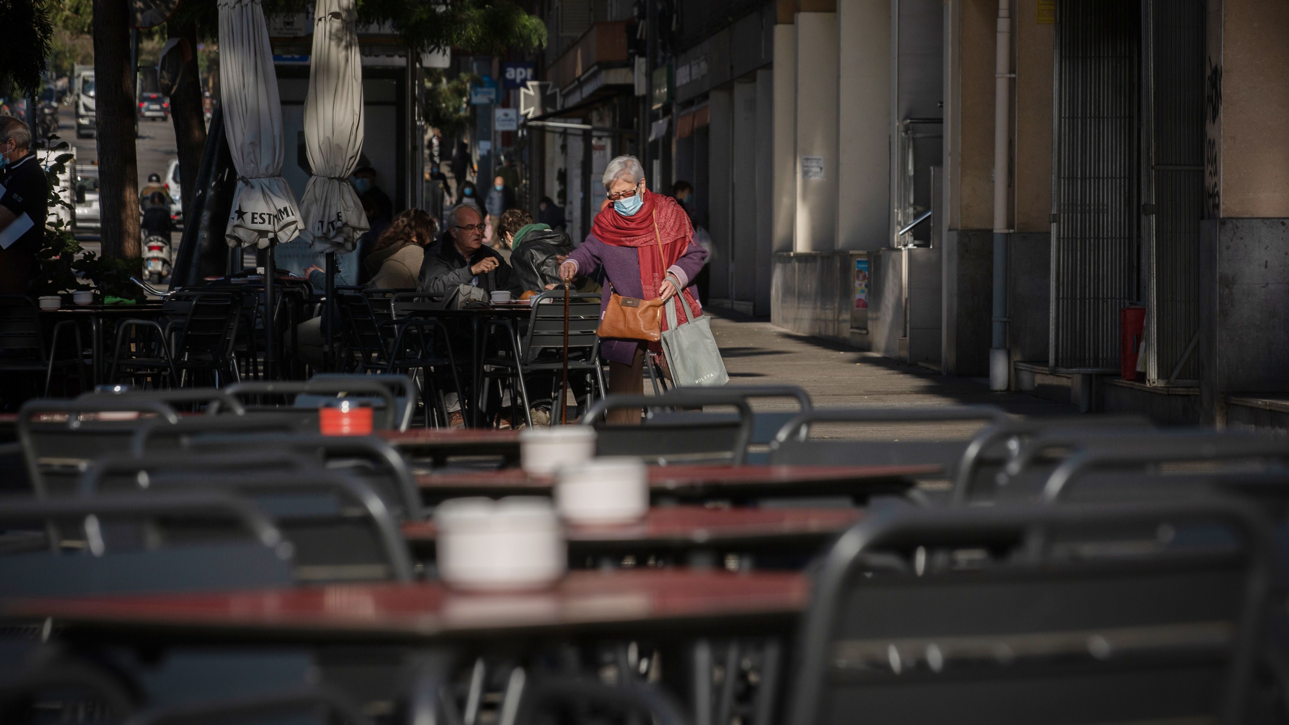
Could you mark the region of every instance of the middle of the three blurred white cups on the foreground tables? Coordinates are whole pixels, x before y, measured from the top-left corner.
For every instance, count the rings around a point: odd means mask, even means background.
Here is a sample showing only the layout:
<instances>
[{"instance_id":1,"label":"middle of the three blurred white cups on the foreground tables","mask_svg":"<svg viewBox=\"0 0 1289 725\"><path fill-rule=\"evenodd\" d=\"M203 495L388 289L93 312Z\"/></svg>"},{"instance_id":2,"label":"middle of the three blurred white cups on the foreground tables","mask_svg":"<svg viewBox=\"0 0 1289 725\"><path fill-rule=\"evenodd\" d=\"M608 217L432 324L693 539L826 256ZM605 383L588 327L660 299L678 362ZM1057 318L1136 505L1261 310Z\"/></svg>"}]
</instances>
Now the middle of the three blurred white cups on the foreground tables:
<instances>
[{"instance_id":1,"label":"middle of the three blurred white cups on the foreground tables","mask_svg":"<svg viewBox=\"0 0 1289 725\"><path fill-rule=\"evenodd\" d=\"M559 468L556 510L570 524L629 524L648 513L648 468L639 458L593 458Z\"/></svg>"}]
</instances>

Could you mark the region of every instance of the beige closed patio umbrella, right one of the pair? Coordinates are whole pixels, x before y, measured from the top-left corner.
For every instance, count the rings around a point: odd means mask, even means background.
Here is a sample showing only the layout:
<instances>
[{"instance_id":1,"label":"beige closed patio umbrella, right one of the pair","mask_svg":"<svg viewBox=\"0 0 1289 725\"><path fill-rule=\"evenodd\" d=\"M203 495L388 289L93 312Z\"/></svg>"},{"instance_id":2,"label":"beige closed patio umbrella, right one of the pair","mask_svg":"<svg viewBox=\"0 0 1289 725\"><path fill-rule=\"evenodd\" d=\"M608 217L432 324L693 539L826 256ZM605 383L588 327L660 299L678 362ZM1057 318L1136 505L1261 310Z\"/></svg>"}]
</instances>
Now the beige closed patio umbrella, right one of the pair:
<instances>
[{"instance_id":1,"label":"beige closed patio umbrella, right one of the pair","mask_svg":"<svg viewBox=\"0 0 1289 725\"><path fill-rule=\"evenodd\" d=\"M335 319L335 255L349 254L367 231L358 192L349 174L362 154L362 58L358 54L354 0L317 0L313 6L313 55L304 101L304 147L313 175L300 210L300 231L313 252L326 254L327 364Z\"/></svg>"}]
</instances>

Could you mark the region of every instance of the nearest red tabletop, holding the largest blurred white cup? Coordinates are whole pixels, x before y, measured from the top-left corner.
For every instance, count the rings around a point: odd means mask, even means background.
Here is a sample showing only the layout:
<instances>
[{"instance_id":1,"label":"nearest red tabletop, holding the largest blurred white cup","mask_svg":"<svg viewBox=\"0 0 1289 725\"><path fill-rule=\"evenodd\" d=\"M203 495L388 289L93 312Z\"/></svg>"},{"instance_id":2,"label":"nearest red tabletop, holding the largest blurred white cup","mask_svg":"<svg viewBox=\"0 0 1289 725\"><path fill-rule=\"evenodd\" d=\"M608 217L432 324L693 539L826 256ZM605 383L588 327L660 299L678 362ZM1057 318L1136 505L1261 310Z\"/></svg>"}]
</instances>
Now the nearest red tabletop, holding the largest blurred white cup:
<instances>
[{"instance_id":1,"label":"nearest red tabletop, holding the largest blurred white cup","mask_svg":"<svg viewBox=\"0 0 1289 725\"><path fill-rule=\"evenodd\" d=\"M6 600L9 621L45 621L75 641L135 646L392 644L517 637L686 637L788 631L808 599L797 571L570 571L549 590L455 592L440 582L249 592Z\"/></svg>"}]
</instances>

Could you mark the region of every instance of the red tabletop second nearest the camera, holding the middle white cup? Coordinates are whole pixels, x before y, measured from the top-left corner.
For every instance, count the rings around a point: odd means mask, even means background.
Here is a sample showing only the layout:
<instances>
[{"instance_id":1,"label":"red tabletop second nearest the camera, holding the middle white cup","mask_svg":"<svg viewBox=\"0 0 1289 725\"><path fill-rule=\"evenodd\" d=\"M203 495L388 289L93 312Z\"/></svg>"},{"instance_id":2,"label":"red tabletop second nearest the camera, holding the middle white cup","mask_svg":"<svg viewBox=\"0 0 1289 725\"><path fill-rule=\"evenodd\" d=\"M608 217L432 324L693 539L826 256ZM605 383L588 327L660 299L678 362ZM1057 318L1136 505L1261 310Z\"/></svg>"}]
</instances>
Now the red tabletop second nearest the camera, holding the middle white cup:
<instances>
[{"instance_id":1,"label":"red tabletop second nearest the camera, holding the middle white cup","mask_svg":"<svg viewBox=\"0 0 1289 725\"><path fill-rule=\"evenodd\" d=\"M596 565L602 556L657 552L715 565L712 553L717 551L811 556L864 515L861 508L656 506L638 522L568 525L565 541L571 564ZM402 533L414 553L433 557L433 521L407 521Z\"/></svg>"}]
</instances>

